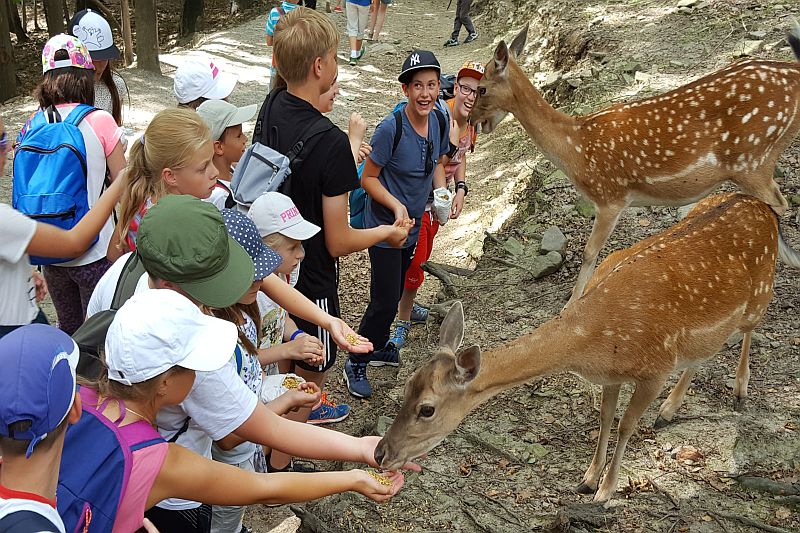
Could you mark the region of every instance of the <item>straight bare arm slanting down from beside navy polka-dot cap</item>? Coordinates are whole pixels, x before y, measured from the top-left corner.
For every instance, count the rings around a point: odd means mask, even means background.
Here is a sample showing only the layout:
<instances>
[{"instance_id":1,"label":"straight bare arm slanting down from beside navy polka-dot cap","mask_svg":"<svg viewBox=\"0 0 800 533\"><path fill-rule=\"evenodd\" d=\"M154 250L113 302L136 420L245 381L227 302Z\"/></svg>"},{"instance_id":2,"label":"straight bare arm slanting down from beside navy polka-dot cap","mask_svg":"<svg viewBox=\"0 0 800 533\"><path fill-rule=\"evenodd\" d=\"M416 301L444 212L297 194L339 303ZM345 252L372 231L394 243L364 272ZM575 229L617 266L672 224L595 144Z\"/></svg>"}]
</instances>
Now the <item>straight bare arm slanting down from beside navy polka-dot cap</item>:
<instances>
[{"instance_id":1,"label":"straight bare arm slanting down from beside navy polka-dot cap","mask_svg":"<svg viewBox=\"0 0 800 533\"><path fill-rule=\"evenodd\" d=\"M345 210L345 213L346 212L347 211ZM314 302L303 296L300 291L281 280L278 276L270 275L264 278L264 281L261 282L261 290L267 296L269 296L273 302L280 305L291 314L299 316L303 320L308 320L309 322L328 330L333 338L333 341L341 349L349 350L353 353L367 353L372 350L372 344L368 339L356 335L352 328L350 328L350 326L348 326L342 319L333 317L314 305ZM291 333L292 332L289 334L291 335ZM347 340L348 336L350 335L354 335L356 338L358 338L358 344L351 344Z\"/></svg>"}]
</instances>

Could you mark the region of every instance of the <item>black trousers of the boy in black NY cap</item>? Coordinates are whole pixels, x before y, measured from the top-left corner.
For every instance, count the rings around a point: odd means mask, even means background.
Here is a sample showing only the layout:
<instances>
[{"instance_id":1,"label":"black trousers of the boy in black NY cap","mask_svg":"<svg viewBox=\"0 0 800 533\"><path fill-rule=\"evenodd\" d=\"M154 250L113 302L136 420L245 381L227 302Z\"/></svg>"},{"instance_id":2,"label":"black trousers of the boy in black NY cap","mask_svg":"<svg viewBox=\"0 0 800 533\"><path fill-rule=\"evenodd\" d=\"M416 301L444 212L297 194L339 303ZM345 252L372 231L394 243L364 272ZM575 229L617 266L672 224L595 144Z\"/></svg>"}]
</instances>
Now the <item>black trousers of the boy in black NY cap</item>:
<instances>
[{"instance_id":1,"label":"black trousers of the boy in black NY cap","mask_svg":"<svg viewBox=\"0 0 800 533\"><path fill-rule=\"evenodd\" d=\"M371 268L369 305L361 319L358 334L372 341L376 350L381 350L389 340L389 329L397 315L397 304L403 295L406 271L414 258L414 246L407 248L369 249ZM369 356L351 354L355 361L367 361Z\"/></svg>"}]
</instances>

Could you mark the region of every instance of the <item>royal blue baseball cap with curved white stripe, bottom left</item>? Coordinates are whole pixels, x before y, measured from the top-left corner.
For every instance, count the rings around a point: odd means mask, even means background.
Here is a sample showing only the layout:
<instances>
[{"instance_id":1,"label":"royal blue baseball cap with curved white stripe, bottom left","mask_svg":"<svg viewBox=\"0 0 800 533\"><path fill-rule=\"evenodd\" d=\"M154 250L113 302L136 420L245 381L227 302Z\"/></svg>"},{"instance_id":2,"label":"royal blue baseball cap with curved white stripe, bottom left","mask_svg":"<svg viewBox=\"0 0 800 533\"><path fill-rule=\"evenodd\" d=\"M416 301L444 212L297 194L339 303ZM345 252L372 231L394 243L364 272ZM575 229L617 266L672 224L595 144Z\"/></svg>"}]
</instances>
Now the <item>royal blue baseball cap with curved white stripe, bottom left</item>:
<instances>
[{"instance_id":1,"label":"royal blue baseball cap with curved white stripe, bottom left","mask_svg":"<svg viewBox=\"0 0 800 533\"><path fill-rule=\"evenodd\" d=\"M30 440L25 457L67 417L75 399L78 345L63 331L30 324L0 339L0 437ZM25 431L11 424L28 421Z\"/></svg>"}]
</instances>

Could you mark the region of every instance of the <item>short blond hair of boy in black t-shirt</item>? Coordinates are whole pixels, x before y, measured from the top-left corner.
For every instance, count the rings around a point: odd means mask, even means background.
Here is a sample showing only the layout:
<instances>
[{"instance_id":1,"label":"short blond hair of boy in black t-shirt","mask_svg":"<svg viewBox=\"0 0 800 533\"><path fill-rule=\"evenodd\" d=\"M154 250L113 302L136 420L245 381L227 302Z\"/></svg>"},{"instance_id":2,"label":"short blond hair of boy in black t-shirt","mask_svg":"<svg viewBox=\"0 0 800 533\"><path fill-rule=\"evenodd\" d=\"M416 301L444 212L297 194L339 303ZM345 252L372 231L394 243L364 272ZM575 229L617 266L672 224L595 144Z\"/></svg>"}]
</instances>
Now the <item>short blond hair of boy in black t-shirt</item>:
<instances>
[{"instance_id":1,"label":"short blond hair of boy in black t-shirt","mask_svg":"<svg viewBox=\"0 0 800 533\"><path fill-rule=\"evenodd\" d=\"M278 72L287 83L303 83L318 58L335 52L339 30L330 17L304 7L295 8L278 20L272 50Z\"/></svg>"}]
</instances>

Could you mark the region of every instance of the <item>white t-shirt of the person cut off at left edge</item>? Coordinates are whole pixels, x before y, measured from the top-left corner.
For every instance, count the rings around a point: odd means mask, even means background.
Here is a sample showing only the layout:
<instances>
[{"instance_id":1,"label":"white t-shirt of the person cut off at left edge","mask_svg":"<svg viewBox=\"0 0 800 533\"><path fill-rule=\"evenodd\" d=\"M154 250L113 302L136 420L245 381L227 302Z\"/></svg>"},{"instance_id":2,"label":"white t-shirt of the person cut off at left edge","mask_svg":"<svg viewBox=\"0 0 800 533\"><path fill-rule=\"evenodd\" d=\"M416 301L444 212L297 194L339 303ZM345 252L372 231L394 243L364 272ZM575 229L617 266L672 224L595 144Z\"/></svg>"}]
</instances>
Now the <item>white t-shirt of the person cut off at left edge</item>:
<instances>
[{"instance_id":1,"label":"white t-shirt of the person cut off at left edge","mask_svg":"<svg viewBox=\"0 0 800 533\"><path fill-rule=\"evenodd\" d=\"M30 324L39 313L25 253L34 233L35 221L0 203L0 326Z\"/></svg>"}]
</instances>

